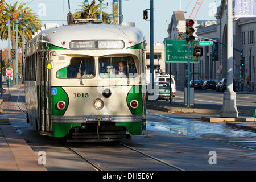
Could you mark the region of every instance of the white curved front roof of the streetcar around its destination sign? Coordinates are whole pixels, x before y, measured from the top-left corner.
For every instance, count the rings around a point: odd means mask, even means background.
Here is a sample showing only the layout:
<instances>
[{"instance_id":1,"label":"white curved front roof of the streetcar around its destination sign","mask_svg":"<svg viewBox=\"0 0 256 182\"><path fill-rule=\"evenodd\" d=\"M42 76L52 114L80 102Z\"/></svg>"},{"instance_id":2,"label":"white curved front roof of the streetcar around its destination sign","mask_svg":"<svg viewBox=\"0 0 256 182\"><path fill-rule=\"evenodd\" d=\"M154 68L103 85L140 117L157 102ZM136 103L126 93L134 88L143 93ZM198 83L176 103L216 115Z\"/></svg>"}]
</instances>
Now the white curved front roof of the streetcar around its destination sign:
<instances>
[{"instance_id":1,"label":"white curved front roof of the streetcar around its destination sign","mask_svg":"<svg viewBox=\"0 0 256 182\"><path fill-rule=\"evenodd\" d=\"M48 28L39 32L34 39L66 49L70 49L69 43L75 40L122 40L125 43L124 48L127 48L143 42L145 37L135 27L90 23Z\"/></svg>"}]
</instances>

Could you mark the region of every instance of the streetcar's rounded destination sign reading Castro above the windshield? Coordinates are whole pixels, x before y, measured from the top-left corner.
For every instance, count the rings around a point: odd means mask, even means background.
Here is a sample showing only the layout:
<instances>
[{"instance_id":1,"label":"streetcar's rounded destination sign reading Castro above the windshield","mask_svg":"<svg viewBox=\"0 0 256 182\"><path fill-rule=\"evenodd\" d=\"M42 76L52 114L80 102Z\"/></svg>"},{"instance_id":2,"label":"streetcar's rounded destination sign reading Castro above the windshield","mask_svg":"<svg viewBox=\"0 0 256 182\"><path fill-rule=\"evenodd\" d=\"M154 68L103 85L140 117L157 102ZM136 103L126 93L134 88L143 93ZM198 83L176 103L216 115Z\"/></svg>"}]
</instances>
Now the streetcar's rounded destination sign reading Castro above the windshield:
<instances>
[{"instance_id":1,"label":"streetcar's rounded destination sign reading Castro above the windshield","mask_svg":"<svg viewBox=\"0 0 256 182\"><path fill-rule=\"evenodd\" d=\"M69 43L72 50L86 49L122 49L125 43L122 40L73 40Z\"/></svg>"}]
</instances>

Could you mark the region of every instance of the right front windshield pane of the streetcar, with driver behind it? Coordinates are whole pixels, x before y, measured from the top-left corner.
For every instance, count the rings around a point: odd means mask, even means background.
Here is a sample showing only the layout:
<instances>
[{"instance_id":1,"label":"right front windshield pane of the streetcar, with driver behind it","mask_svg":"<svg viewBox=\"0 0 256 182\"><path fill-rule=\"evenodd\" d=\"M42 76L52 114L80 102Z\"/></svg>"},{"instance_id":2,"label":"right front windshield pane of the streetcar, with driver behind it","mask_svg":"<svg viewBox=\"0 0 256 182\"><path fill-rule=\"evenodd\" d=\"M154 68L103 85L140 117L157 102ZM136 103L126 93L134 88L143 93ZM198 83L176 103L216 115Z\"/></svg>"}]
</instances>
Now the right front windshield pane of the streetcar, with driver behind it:
<instances>
[{"instance_id":1,"label":"right front windshield pane of the streetcar, with driver behind it","mask_svg":"<svg viewBox=\"0 0 256 182\"><path fill-rule=\"evenodd\" d=\"M136 77L137 69L133 57L100 57L98 59L100 77L122 78Z\"/></svg>"}]
</instances>

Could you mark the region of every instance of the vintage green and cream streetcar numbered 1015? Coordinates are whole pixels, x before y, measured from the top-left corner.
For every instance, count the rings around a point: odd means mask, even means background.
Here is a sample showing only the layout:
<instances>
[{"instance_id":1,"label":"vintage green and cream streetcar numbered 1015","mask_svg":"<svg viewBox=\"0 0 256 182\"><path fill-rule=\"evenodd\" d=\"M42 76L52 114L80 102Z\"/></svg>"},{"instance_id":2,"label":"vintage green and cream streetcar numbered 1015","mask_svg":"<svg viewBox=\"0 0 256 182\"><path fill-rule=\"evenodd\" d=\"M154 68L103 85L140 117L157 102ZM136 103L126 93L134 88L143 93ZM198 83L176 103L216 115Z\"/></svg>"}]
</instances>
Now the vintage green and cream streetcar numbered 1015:
<instances>
[{"instance_id":1,"label":"vintage green and cream streetcar numbered 1015","mask_svg":"<svg viewBox=\"0 0 256 182\"><path fill-rule=\"evenodd\" d=\"M144 41L133 26L46 24L26 45L27 122L68 141L144 134Z\"/></svg>"}]
</instances>

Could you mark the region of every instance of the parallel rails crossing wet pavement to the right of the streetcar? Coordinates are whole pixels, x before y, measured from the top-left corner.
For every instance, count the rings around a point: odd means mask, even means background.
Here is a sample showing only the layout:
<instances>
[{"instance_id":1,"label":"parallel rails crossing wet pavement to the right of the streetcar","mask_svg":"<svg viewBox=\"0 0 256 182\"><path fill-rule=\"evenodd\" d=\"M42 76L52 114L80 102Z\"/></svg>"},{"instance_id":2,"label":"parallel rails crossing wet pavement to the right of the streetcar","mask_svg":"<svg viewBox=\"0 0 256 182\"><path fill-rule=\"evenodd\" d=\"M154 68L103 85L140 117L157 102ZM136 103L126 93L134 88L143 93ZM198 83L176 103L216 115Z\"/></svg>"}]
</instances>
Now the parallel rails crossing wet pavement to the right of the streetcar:
<instances>
[{"instance_id":1,"label":"parallel rails crossing wet pavement to the right of the streetcar","mask_svg":"<svg viewBox=\"0 0 256 182\"><path fill-rule=\"evenodd\" d=\"M147 112L147 113L149 113L149 112ZM181 119L176 119L176 118L172 118L172 117L166 117L166 116L164 116L164 115L159 115L159 114L154 114L154 113L150 113L150 114L156 115L156 116L158 116L158 117L167 118L167 119L174 119L174 120L176 120L176 121L184 122L184 123L189 123L189 124L195 125L195 126L205 127L205 126L203 126L203 125L195 124L195 123L191 123L191 122L186 122L186 121L183 121L183 120L181 120ZM236 146L236 147L240 147L240 148L246 148L246 149L249 149L249 150L254 150L254 151L256 151L255 148L250 148L250 147L241 146L240 144L234 144L234 143L231 143L232 141L230 141L230 143L228 143L228 142L226 142L226 141L224 141L224 140L213 139L213 138L209 138L209 137L205 137L205 136L201 136L201 135L196 135L196 134L193 134L193 133L188 133L188 132L181 131L181 130L177 131L177 129L172 129L171 127L162 126L162 125L159 125L159 124L156 124L156 123L152 123L152 122L148 122L148 121L147 121L147 123L150 123L150 124L152 124L152 125L157 125L157 126L159 126L159 127L163 127L164 129L168 129L168 130L174 131L174 132L176 132L176 133L182 133L182 134L192 135L192 136L194 136L194 137L200 137L200 138L204 138L204 139L210 139L210 140L214 140L214 141L217 141L217 142L221 142L221 143L225 143L225 144L230 144L230 145L232 145L232 146ZM208 127L208 126L205 127L205 128L211 129L211 130L217 130L217 129L213 129L213 128ZM223 133L223 132L225 132L225 133L230 133L230 134L238 135L238 136L242 136L242 137L256 138L256 137L250 136L250 135L236 134L236 133L233 133L233 132L231 132L231 131L223 131L223 130L217 130L217 131L221 131L222 133Z\"/></svg>"}]
</instances>

